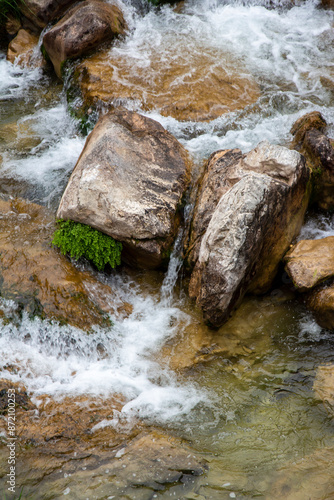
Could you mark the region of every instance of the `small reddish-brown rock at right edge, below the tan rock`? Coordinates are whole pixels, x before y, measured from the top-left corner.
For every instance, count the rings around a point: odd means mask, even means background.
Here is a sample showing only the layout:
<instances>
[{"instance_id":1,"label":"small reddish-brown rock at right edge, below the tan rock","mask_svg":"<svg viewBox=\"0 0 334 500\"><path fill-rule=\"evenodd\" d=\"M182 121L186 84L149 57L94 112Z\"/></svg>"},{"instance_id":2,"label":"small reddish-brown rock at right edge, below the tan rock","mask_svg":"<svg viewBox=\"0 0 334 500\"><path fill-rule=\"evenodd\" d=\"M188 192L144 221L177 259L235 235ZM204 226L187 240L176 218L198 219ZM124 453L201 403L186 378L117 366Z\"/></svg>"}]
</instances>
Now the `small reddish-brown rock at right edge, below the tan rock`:
<instances>
[{"instance_id":1,"label":"small reddish-brown rock at right edge, below the tan rock","mask_svg":"<svg viewBox=\"0 0 334 500\"><path fill-rule=\"evenodd\" d=\"M320 326L334 330L334 285L312 290L306 304Z\"/></svg>"}]
</instances>

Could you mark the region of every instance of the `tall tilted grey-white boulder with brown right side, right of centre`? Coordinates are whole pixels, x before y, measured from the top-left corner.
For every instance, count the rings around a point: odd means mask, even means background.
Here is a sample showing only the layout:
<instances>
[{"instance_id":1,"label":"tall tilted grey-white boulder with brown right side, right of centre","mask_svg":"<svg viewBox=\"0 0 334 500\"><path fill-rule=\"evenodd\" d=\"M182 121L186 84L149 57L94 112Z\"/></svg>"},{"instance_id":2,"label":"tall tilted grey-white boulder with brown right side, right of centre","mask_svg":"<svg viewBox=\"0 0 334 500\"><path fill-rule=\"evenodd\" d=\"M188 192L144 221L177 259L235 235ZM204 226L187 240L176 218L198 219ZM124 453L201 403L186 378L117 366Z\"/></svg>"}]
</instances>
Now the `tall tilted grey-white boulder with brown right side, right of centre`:
<instances>
[{"instance_id":1,"label":"tall tilted grey-white boulder with brown right side, right of centre","mask_svg":"<svg viewBox=\"0 0 334 500\"><path fill-rule=\"evenodd\" d=\"M228 159L235 157L235 162ZM226 163L227 159L227 163ZM226 169L210 162L222 161ZM220 326L245 293L266 292L279 263L298 234L308 204L309 169L296 151L264 141L241 155L238 151L211 157L205 184L199 190L191 234L196 262L189 293L203 310L204 319ZM211 176L210 176L211 172ZM218 173L218 174L217 174ZM208 183L219 175L223 194L209 203ZM212 216L203 218L203 214ZM203 230L204 235L203 234Z\"/></svg>"}]
</instances>

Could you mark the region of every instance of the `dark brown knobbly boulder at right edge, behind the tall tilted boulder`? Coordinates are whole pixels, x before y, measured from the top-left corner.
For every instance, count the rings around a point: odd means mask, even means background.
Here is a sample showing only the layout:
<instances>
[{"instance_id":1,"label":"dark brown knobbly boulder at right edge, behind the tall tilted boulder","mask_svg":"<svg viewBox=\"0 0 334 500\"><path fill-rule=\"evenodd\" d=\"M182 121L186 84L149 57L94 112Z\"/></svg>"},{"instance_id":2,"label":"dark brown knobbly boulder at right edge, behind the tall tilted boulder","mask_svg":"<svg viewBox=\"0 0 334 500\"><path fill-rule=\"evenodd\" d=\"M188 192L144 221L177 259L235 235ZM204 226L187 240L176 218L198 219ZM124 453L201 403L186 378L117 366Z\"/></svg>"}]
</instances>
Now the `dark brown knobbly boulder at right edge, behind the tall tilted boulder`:
<instances>
[{"instance_id":1,"label":"dark brown knobbly boulder at right edge, behind the tall tilted boulder","mask_svg":"<svg viewBox=\"0 0 334 500\"><path fill-rule=\"evenodd\" d=\"M291 129L292 147L306 158L313 176L313 201L321 209L334 208L334 141L327 137L326 121L317 111L299 118Z\"/></svg>"}]
</instances>

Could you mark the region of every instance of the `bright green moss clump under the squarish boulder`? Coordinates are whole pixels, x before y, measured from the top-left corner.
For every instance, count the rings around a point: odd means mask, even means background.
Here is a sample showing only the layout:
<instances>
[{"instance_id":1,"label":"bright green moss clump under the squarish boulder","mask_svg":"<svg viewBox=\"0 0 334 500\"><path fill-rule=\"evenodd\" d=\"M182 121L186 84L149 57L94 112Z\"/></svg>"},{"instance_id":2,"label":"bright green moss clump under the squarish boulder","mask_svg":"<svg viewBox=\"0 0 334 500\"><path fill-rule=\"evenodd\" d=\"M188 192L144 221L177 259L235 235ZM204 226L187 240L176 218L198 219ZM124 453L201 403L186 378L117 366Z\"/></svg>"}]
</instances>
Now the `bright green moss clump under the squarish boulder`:
<instances>
[{"instance_id":1,"label":"bright green moss clump under the squarish boulder","mask_svg":"<svg viewBox=\"0 0 334 500\"><path fill-rule=\"evenodd\" d=\"M85 257L99 271L106 264L116 267L121 263L122 243L90 226L72 220L59 220L52 244L75 259Z\"/></svg>"}]
</instances>

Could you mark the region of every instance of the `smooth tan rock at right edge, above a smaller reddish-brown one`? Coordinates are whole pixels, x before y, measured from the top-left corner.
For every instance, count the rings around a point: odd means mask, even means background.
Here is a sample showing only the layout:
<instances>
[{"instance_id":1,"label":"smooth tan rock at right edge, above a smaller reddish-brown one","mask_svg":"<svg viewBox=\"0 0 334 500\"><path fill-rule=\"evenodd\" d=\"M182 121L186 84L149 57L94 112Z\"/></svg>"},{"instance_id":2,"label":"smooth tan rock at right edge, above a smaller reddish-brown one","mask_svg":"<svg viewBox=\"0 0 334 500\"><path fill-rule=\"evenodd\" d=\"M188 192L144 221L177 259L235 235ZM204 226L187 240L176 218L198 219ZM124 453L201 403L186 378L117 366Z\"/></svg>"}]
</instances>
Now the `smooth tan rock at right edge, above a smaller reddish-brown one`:
<instances>
[{"instance_id":1,"label":"smooth tan rock at right edge, above a smaller reddish-brown one","mask_svg":"<svg viewBox=\"0 0 334 500\"><path fill-rule=\"evenodd\" d=\"M295 287L305 292L334 276L334 236L299 241L284 260Z\"/></svg>"}]
</instances>

